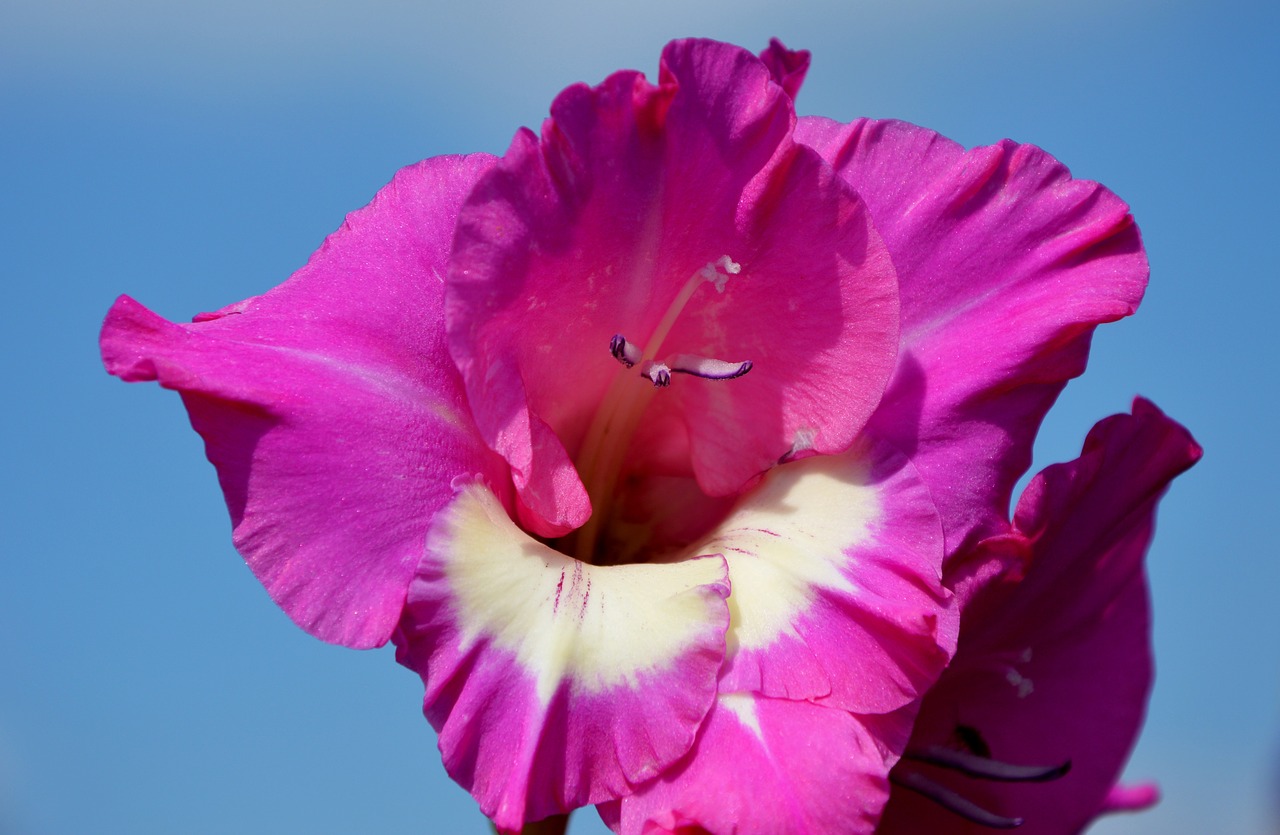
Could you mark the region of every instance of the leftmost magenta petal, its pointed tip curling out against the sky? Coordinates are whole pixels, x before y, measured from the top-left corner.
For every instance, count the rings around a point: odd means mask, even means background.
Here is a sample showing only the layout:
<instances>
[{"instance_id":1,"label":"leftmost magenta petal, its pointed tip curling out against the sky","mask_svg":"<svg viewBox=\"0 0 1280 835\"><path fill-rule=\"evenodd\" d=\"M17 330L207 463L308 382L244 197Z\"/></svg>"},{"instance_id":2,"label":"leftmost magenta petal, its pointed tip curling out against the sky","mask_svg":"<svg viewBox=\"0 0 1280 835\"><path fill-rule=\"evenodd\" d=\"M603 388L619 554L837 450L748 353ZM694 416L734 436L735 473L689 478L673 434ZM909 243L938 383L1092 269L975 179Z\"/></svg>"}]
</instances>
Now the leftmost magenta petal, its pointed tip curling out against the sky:
<instances>
[{"instance_id":1,"label":"leftmost magenta petal, its pointed tip curling out against the sky","mask_svg":"<svg viewBox=\"0 0 1280 835\"><path fill-rule=\"evenodd\" d=\"M443 338L458 206L489 156L399 172L269 293L161 319L122 297L102 359L183 394L218 467L236 547L311 634L387 642L451 480L506 473L476 434Z\"/></svg>"}]
</instances>

